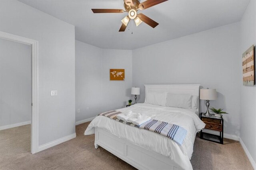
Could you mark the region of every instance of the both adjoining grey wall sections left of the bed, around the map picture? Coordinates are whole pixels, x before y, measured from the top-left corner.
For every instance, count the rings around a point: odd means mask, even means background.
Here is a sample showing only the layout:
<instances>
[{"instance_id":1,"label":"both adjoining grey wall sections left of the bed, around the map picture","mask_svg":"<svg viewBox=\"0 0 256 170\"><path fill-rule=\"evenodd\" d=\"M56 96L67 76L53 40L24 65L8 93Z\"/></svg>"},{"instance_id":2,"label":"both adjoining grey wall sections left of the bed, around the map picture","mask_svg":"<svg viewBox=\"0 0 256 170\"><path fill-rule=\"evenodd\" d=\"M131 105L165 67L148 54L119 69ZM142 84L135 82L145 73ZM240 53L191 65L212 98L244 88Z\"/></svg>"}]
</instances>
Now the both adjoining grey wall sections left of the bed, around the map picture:
<instances>
[{"instance_id":1,"label":"both adjoining grey wall sections left of the bed, around the map picture","mask_svg":"<svg viewBox=\"0 0 256 170\"><path fill-rule=\"evenodd\" d=\"M125 81L110 81L110 68L124 68ZM100 49L76 41L76 121L125 107L131 87L132 51Z\"/></svg>"}]
</instances>

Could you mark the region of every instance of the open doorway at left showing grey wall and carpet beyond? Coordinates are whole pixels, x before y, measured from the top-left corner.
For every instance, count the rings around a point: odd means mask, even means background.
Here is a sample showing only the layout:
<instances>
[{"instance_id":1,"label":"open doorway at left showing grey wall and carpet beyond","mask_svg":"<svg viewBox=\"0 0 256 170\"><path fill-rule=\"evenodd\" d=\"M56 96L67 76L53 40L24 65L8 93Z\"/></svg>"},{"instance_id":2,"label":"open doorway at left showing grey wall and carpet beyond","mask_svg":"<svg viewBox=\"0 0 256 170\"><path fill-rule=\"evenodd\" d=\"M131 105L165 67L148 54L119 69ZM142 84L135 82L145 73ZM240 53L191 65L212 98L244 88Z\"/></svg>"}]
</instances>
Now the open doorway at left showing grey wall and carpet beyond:
<instances>
[{"instance_id":1,"label":"open doorway at left showing grey wall and carpet beyond","mask_svg":"<svg viewBox=\"0 0 256 170\"><path fill-rule=\"evenodd\" d=\"M0 38L0 150L30 152L30 45Z\"/></svg>"}]
</instances>

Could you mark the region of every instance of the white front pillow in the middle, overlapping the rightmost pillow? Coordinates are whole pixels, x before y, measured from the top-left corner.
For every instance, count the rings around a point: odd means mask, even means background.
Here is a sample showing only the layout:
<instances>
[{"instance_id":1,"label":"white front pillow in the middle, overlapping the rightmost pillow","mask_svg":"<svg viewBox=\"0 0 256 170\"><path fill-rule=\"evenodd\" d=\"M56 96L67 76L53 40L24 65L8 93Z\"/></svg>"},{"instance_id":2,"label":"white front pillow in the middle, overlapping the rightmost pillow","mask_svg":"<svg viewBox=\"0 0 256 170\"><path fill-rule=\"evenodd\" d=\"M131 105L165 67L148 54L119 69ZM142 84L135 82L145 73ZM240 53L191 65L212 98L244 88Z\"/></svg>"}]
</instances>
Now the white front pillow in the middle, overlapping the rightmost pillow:
<instances>
[{"instance_id":1,"label":"white front pillow in the middle, overlapping the rightmost pillow","mask_svg":"<svg viewBox=\"0 0 256 170\"><path fill-rule=\"evenodd\" d=\"M191 109L192 96L190 94L167 94L166 106Z\"/></svg>"}]
</instances>

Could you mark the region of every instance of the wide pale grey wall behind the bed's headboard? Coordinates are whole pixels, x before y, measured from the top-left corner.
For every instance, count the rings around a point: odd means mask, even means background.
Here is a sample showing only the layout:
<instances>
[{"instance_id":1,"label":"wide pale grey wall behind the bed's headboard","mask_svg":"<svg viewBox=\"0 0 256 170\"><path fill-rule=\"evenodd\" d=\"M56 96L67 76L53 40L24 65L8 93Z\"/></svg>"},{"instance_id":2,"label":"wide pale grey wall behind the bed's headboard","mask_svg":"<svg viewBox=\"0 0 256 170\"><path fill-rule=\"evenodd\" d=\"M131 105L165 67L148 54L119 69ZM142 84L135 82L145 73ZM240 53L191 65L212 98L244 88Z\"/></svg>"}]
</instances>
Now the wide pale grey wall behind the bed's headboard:
<instances>
[{"instance_id":1,"label":"wide pale grey wall behind the bed's headboard","mask_svg":"<svg viewBox=\"0 0 256 170\"><path fill-rule=\"evenodd\" d=\"M195 33L132 51L132 84L201 84L216 88L210 106L224 108L224 133L239 136L240 23ZM200 102L205 112L205 101Z\"/></svg>"}]
</instances>

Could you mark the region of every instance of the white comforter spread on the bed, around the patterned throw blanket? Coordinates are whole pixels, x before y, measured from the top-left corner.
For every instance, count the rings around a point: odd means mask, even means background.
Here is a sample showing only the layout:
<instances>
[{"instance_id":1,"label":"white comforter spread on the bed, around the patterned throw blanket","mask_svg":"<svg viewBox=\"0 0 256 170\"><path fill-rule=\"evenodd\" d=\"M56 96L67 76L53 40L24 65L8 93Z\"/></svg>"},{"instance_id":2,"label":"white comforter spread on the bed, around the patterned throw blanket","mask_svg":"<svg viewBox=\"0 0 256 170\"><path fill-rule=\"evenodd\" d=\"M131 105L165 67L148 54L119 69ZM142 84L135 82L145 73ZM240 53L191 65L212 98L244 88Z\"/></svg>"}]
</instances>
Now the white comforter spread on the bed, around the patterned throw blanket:
<instances>
[{"instance_id":1,"label":"white comforter spread on the bed, around the patterned throw blanket","mask_svg":"<svg viewBox=\"0 0 256 170\"><path fill-rule=\"evenodd\" d=\"M167 156L183 169L192 169L190 158L193 153L196 132L200 131L205 126L204 122L196 115L195 109L181 109L152 104L135 104L117 110L121 112L132 111L142 113L149 115L152 119L179 125L187 130L187 135L183 144L179 146L172 139L151 131L125 125L104 116L97 116L93 119L88 125L84 135L94 134L94 127L99 127L135 145Z\"/></svg>"}]
</instances>

